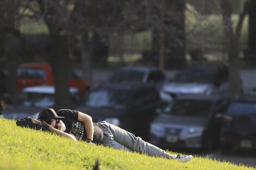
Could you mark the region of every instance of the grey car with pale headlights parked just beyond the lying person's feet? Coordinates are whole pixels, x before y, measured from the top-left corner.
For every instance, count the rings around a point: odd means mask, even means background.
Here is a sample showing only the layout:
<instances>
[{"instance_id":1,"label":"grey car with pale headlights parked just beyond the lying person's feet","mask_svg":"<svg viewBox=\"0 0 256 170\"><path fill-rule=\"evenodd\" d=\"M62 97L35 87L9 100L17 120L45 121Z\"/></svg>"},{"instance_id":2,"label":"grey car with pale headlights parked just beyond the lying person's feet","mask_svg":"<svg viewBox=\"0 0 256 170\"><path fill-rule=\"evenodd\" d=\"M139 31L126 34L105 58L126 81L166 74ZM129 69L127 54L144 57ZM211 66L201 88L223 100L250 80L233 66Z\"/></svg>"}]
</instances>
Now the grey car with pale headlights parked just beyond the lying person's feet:
<instances>
[{"instance_id":1,"label":"grey car with pale headlights parked just beyond the lying person's feet","mask_svg":"<svg viewBox=\"0 0 256 170\"><path fill-rule=\"evenodd\" d=\"M150 142L162 148L219 146L221 113L228 100L217 96L180 95L150 126Z\"/></svg>"}]
</instances>

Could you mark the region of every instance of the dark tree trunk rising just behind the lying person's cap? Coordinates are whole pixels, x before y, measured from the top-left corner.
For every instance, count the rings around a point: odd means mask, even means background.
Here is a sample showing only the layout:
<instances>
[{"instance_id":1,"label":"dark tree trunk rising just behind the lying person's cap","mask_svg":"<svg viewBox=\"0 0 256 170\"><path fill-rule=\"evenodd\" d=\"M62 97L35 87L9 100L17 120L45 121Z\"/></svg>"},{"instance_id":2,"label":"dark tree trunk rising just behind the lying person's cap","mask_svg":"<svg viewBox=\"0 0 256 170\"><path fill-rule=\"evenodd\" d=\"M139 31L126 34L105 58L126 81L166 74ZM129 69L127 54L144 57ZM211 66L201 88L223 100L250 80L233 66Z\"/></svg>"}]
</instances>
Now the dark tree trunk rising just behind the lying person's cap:
<instances>
[{"instance_id":1,"label":"dark tree trunk rising just behind the lying person's cap","mask_svg":"<svg viewBox=\"0 0 256 170\"><path fill-rule=\"evenodd\" d=\"M48 61L52 65L54 76L54 109L70 108L69 95L69 74L71 70L71 60L69 58L68 40L61 35L62 25L58 23L58 3L54 4L43 0L37 0L42 16L48 27L51 44L48 48ZM50 58L49 58L50 57Z\"/></svg>"}]
</instances>

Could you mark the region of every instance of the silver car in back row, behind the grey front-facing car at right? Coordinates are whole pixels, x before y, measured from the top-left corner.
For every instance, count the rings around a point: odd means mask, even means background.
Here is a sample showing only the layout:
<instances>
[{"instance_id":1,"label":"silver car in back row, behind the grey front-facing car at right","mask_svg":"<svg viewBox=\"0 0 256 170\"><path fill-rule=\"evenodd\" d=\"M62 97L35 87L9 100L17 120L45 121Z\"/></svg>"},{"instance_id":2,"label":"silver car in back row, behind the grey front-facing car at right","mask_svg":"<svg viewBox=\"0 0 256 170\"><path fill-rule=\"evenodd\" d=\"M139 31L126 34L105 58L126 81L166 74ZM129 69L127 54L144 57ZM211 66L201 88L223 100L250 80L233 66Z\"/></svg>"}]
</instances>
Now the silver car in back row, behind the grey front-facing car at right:
<instances>
[{"instance_id":1,"label":"silver car in back row, behind the grey front-facing car at right","mask_svg":"<svg viewBox=\"0 0 256 170\"><path fill-rule=\"evenodd\" d=\"M228 96L228 67L196 66L178 71L163 85L160 97L170 102L180 94Z\"/></svg>"}]
</instances>

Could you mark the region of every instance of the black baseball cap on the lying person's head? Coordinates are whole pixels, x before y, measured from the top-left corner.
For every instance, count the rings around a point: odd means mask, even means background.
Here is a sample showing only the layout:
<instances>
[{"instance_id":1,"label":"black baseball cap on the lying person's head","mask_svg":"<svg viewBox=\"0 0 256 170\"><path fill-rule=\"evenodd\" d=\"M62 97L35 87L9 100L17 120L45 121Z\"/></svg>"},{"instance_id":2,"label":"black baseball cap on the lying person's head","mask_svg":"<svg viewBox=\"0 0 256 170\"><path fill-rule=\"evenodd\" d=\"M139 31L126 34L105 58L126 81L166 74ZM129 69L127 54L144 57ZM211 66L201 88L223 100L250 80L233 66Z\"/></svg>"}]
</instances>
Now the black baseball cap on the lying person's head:
<instances>
[{"instance_id":1,"label":"black baseball cap on the lying person's head","mask_svg":"<svg viewBox=\"0 0 256 170\"><path fill-rule=\"evenodd\" d=\"M65 117L58 116L52 108L45 108L40 111L38 118L41 121L45 121L48 124L51 124L52 119L62 119Z\"/></svg>"}]
</instances>

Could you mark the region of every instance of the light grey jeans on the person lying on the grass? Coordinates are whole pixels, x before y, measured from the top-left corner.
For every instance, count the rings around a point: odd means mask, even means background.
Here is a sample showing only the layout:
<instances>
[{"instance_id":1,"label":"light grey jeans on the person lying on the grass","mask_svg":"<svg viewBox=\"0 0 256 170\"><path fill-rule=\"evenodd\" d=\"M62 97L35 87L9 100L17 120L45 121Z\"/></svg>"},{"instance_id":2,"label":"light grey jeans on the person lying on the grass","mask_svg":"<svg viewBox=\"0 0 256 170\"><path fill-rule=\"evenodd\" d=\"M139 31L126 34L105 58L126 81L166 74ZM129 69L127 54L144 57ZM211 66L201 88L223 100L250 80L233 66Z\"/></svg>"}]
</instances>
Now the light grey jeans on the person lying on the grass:
<instances>
[{"instance_id":1,"label":"light grey jeans on the person lying on the grass","mask_svg":"<svg viewBox=\"0 0 256 170\"><path fill-rule=\"evenodd\" d=\"M143 141L141 137L136 137L129 131L109 124L106 121L101 121L97 124L103 131L103 146L123 149L130 152L136 151L141 154L167 159L170 159L172 156L153 144Z\"/></svg>"}]
</instances>

